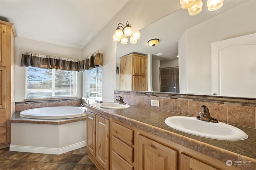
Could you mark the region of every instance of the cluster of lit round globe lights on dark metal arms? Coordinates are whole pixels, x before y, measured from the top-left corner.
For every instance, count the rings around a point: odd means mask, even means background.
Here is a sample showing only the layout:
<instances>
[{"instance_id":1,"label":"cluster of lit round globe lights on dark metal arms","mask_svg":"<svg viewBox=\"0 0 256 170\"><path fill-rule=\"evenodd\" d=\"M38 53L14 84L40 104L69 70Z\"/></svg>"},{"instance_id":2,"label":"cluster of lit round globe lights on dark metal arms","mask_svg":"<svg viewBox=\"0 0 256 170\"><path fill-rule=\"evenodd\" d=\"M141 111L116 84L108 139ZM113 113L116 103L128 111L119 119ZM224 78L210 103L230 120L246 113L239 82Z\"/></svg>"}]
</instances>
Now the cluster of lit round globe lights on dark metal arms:
<instances>
[{"instance_id":1,"label":"cluster of lit round globe lights on dark metal arms","mask_svg":"<svg viewBox=\"0 0 256 170\"><path fill-rule=\"evenodd\" d=\"M122 44L127 44L128 38L130 37L130 43L135 44L137 43L137 40L140 39L140 32L132 32L132 28L129 25L129 22L126 22L126 26L119 23L117 25L116 31L114 32L114 35L112 36L114 42L121 42Z\"/></svg>"}]
</instances>

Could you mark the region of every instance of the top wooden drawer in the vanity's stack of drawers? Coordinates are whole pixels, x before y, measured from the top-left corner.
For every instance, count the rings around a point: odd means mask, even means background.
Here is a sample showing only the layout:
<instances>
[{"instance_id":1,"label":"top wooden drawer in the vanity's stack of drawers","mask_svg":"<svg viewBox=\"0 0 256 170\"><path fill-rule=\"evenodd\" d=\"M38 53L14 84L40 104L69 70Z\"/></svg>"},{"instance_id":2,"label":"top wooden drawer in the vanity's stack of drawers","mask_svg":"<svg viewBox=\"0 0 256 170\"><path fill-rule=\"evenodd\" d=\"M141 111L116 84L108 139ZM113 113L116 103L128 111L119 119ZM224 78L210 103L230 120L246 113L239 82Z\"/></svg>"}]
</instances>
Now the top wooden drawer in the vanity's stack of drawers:
<instances>
[{"instance_id":1,"label":"top wooden drawer in the vanity's stack of drawers","mask_svg":"<svg viewBox=\"0 0 256 170\"><path fill-rule=\"evenodd\" d=\"M114 136L119 138L120 140L126 142L127 144L133 145L134 140L134 130L126 128L117 123L112 124L112 133Z\"/></svg>"}]
</instances>

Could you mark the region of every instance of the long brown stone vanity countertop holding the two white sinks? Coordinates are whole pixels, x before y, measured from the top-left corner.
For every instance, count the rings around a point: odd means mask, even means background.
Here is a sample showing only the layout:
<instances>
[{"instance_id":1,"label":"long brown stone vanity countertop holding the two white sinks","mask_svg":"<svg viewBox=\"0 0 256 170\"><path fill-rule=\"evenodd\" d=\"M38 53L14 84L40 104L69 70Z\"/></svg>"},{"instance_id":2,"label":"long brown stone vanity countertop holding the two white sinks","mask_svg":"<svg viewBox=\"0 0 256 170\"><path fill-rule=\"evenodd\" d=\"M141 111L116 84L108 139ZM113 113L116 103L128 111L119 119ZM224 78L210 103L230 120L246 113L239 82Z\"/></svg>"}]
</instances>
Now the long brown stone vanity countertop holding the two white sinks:
<instances>
[{"instance_id":1,"label":"long brown stone vanity countertop holding the two white sinks","mask_svg":"<svg viewBox=\"0 0 256 170\"><path fill-rule=\"evenodd\" d=\"M117 119L223 162L244 160L252 161L252 166L256 165L256 129L233 125L246 132L249 137L237 141L216 140L181 132L164 123L167 117L186 115L132 105L126 109L104 109L98 103L86 107L88 111Z\"/></svg>"}]
</instances>

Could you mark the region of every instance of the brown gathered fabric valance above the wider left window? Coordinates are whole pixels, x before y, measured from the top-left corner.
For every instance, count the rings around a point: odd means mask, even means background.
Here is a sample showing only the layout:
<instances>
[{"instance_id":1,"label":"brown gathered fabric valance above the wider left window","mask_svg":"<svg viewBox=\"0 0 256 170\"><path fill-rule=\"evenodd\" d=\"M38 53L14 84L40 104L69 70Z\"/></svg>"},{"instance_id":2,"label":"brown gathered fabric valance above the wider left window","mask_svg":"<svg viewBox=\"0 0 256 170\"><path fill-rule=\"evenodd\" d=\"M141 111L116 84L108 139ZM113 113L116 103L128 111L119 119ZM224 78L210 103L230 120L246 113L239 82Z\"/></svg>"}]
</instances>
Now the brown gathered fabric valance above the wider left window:
<instances>
[{"instance_id":1,"label":"brown gathered fabric valance above the wider left window","mask_svg":"<svg viewBox=\"0 0 256 170\"><path fill-rule=\"evenodd\" d=\"M38 67L46 69L61 69L70 71L80 71L81 63L78 59L56 57L52 55L23 52L20 66Z\"/></svg>"}]
</instances>

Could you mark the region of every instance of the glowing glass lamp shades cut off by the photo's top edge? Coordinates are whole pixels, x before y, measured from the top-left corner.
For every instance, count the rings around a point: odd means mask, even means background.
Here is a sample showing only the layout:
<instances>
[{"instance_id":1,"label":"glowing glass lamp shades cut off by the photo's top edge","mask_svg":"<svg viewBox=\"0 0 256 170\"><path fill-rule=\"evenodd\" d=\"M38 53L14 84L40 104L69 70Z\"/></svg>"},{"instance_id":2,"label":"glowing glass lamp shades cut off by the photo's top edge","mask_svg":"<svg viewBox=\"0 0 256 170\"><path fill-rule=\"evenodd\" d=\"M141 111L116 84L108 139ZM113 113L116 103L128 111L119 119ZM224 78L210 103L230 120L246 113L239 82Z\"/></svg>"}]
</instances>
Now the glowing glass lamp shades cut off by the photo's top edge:
<instances>
[{"instance_id":1,"label":"glowing glass lamp shades cut off by the photo's top edge","mask_svg":"<svg viewBox=\"0 0 256 170\"><path fill-rule=\"evenodd\" d=\"M223 6L224 0L208 0L207 6L209 11L215 11ZM194 16L202 11L202 0L180 0L181 8L188 9L188 14Z\"/></svg>"}]
</instances>

